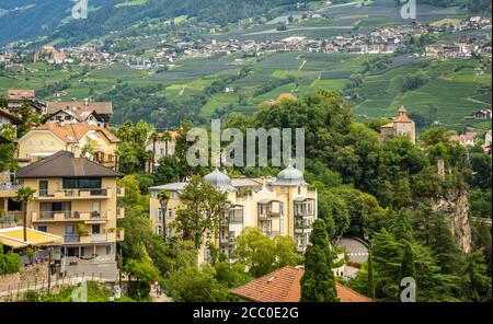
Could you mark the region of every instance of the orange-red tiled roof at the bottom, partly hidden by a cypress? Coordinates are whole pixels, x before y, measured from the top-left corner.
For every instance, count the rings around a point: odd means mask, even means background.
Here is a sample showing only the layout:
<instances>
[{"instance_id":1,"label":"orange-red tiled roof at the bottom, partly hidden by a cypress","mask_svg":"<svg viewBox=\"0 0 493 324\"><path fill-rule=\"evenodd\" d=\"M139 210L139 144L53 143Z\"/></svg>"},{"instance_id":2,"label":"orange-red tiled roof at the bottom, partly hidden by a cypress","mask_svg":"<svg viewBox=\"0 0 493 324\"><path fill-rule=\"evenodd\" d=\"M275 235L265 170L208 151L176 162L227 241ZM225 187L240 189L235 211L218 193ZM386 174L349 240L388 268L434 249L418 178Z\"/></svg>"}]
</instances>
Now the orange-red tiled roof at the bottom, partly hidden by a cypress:
<instances>
[{"instance_id":1,"label":"orange-red tiled roof at the bottom, partly hidden by a cypress","mask_svg":"<svg viewBox=\"0 0 493 324\"><path fill-rule=\"evenodd\" d=\"M255 302L298 302L301 299L301 267L286 266L249 284L231 289L231 293ZM371 299L343 285L335 284L341 302L369 302Z\"/></svg>"}]
</instances>

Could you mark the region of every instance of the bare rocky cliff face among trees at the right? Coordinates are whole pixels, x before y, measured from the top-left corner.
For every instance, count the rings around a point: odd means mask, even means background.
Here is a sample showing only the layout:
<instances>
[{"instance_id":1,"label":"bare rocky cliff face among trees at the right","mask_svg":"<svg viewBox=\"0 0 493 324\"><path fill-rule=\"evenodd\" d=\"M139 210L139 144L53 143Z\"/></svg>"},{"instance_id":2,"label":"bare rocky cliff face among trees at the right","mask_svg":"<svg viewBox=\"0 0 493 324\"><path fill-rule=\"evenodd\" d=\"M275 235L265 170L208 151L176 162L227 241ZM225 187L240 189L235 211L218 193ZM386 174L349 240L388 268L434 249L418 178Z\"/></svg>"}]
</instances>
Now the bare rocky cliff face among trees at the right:
<instances>
[{"instance_id":1,"label":"bare rocky cliff face among trees at the right","mask_svg":"<svg viewBox=\"0 0 493 324\"><path fill-rule=\"evenodd\" d=\"M443 210L450 219L450 230L463 253L471 251L471 223L467 190L446 194L433 204L434 210Z\"/></svg>"}]
</instances>

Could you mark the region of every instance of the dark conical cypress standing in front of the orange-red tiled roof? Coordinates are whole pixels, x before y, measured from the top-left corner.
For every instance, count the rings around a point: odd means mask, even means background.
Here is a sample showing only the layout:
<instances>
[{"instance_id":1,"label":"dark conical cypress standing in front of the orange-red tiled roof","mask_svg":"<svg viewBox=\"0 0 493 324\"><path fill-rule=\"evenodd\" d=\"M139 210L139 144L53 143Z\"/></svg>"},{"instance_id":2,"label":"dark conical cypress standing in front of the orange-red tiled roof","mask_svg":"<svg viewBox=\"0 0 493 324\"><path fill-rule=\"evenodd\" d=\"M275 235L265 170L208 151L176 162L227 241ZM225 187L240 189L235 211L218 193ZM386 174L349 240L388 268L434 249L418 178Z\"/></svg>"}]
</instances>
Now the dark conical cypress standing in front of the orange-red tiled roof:
<instances>
[{"instance_id":1,"label":"dark conical cypress standing in front of the orange-red tiled roof","mask_svg":"<svg viewBox=\"0 0 493 324\"><path fill-rule=\"evenodd\" d=\"M317 219L305 253L305 274L301 278L301 301L335 302L335 278L332 270L333 254L325 222Z\"/></svg>"}]
</instances>

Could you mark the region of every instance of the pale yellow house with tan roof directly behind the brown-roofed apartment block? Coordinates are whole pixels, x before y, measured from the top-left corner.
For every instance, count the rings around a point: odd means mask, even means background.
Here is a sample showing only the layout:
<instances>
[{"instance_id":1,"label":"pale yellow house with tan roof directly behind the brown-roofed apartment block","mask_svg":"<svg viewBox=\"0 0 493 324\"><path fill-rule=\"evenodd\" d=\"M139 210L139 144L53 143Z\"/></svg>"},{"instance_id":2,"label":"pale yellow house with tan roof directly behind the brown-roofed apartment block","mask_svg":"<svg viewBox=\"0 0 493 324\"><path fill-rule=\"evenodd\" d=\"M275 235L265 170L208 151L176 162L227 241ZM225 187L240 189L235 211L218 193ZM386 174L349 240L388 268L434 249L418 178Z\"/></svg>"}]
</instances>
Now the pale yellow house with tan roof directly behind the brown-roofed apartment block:
<instances>
[{"instance_id":1,"label":"pale yellow house with tan roof directly behind the brown-roofed apartment block","mask_svg":"<svg viewBox=\"0 0 493 324\"><path fill-rule=\"evenodd\" d=\"M46 124L34 127L19 139L18 159L24 165L58 151L78 153L90 148L85 158L116 170L119 140L108 129L89 124Z\"/></svg>"}]
</instances>

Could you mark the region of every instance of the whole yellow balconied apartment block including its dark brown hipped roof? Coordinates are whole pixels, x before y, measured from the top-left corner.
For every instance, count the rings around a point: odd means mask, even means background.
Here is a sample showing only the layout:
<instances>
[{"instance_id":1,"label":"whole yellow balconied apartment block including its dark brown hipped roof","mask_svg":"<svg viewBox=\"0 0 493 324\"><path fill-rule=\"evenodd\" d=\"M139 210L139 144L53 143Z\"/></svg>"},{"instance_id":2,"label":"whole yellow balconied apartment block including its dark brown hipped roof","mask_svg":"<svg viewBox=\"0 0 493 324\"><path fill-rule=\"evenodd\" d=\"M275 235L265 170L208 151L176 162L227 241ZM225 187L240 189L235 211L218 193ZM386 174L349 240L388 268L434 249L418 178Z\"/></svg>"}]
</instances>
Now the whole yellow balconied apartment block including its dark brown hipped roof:
<instances>
[{"instance_id":1,"label":"whole yellow balconied apartment block including its dark brown hipped roof","mask_svg":"<svg viewBox=\"0 0 493 324\"><path fill-rule=\"evenodd\" d=\"M66 256L113 259L124 239L117 219L124 217L117 197L124 195L108 167L59 151L15 173L19 185L35 189L27 202L28 228L64 238Z\"/></svg>"}]
</instances>

